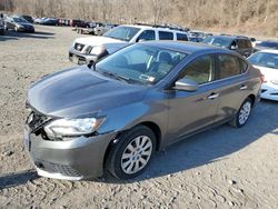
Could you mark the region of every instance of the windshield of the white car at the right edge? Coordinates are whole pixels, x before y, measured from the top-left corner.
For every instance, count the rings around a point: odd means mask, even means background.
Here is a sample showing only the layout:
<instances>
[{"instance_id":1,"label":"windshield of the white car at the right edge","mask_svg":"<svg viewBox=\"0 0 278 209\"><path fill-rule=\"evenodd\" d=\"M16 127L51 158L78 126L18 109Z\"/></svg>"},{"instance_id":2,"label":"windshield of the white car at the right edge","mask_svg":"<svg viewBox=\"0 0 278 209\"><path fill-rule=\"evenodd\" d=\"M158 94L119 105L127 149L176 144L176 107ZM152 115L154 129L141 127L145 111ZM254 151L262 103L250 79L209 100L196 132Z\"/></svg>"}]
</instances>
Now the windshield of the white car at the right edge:
<instances>
[{"instance_id":1,"label":"windshield of the white car at the right edge","mask_svg":"<svg viewBox=\"0 0 278 209\"><path fill-rule=\"evenodd\" d=\"M278 69L278 53L257 52L248 60L255 66Z\"/></svg>"}]
</instances>

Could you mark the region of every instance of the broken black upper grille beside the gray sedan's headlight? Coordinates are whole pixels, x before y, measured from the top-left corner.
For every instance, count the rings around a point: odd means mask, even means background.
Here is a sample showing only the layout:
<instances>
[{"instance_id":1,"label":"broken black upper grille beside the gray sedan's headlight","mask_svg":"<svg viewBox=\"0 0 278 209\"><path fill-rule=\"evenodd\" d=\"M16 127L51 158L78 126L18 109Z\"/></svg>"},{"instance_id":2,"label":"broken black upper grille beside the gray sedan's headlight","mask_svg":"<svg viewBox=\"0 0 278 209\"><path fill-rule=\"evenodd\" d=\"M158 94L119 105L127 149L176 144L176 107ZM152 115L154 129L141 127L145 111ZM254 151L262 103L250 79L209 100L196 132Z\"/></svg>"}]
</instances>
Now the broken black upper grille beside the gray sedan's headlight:
<instances>
[{"instance_id":1,"label":"broken black upper grille beside the gray sedan's headlight","mask_svg":"<svg viewBox=\"0 0 278 209\"><path fill-rule=\"evenodd\" d=\"M39 130L43 125L51 120L50 117L41 115L34 110L31 110L30 115L27 118L26 123L29 126L32 132Z\"/></svg>"}]
</instances>

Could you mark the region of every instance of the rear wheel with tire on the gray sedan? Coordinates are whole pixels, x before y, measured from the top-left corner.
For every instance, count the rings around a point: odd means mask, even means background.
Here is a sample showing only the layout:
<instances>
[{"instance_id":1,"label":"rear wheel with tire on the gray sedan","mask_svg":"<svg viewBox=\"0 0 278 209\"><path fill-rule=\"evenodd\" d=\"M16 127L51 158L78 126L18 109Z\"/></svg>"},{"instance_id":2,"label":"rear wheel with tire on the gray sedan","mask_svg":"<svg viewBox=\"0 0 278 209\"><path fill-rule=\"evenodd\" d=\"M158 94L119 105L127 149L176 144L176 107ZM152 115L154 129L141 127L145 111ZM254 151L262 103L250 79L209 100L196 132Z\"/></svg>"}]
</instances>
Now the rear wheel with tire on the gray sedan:
<instances>
[{"instance_id":1,"label":"rear wheel with tire on the gray sedan","mask_svg":"<svg viewBox=\"0 0 278 209\"><path fill-rule=\"evenodd\" d=\"M248 97L240 106L236 117L232 119L230 125L236 128L244 127L250 117L251 109L252 109L252 100Z\"/></svg>"}]
</instances>

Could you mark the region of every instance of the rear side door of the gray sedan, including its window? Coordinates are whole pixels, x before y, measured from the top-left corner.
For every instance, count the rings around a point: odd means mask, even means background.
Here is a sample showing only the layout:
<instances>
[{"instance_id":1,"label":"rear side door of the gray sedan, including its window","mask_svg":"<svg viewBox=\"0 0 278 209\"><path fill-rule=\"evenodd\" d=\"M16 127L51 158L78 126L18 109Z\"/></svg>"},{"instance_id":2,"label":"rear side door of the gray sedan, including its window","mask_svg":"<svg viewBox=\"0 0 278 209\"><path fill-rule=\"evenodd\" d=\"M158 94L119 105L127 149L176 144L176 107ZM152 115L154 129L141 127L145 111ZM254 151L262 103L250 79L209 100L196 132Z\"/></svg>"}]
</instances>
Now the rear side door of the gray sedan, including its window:
<instances>
[{"instance_id":1,"label":"rear side door of the gray sedan, including its window","mask_svg":"<svg viewBox=\"0 0 278 209\"><path fill-rule=\"evenodd\" d=\"M242 72L240 58L234 54L216 54L216 83L219 86L219 108L216 122L231 119L238 111L240 104L248 96L250 84L246 73Z\"/></svg>"}]
</instances>

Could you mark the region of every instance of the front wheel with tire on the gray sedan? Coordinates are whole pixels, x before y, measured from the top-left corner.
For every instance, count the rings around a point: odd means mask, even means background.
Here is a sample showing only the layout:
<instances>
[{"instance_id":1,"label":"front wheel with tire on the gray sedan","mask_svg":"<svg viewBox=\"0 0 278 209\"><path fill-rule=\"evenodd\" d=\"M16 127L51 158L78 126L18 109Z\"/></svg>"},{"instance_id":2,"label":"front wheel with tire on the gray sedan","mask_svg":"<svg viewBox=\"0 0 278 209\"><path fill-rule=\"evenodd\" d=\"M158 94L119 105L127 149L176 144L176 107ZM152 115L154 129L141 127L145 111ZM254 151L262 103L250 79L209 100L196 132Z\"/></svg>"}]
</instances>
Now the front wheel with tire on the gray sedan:
<instances>
[{"instance_id":1,"label":"front wheel with tire on the gray sedan","mask_svg":"<svg viewBox=\"0 0 278 209\"><path fill-rule=\"evenodd\" d=\"M141 175L156 150L156 136L146 126L137 126L118 138L106 160L106 169L118 179ZM143 155L145 153L145 155Z\"/></svg>"}]
</instances>

